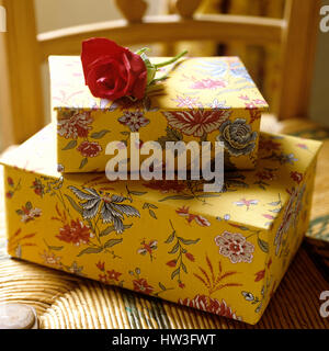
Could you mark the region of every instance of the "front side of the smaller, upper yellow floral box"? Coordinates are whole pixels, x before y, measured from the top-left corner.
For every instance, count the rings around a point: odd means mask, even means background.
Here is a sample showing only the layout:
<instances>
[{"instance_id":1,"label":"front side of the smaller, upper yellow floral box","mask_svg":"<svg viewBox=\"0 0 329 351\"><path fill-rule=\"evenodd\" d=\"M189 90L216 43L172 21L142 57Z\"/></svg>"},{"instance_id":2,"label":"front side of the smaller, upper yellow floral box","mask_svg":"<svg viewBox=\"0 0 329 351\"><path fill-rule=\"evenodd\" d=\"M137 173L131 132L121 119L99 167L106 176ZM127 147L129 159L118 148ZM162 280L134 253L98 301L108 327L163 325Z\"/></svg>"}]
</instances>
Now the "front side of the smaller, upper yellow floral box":
<instances>
[{"instance_id":1,"label":"front side of the smaller, upper yellow floral box","mask_svg":"<svg viewBox=\"0 0 329 351\"><path fill-rule=\"evenodd\" d=\"M121 107L111 111L68 110L57 111L57 155L63 172L104 171L111 159L105 155L109 143L115 148L127 147L129 167L131 145L139 154L146 141L158 141L166 149L166 141L212 141L225 145L226 169L253 169L257 161L261 112L247 110L159 111L148 106L135 111ZM131 133L139 133L141 143L132 140ZM241 135L241 133L243 135ZM240 141L238 141L240 140ZM140 155L140 162L149 156ZM156 163L164 160L158 159ZM188 162L188 169L190 169Z\"/></svg>"}]
</instances>

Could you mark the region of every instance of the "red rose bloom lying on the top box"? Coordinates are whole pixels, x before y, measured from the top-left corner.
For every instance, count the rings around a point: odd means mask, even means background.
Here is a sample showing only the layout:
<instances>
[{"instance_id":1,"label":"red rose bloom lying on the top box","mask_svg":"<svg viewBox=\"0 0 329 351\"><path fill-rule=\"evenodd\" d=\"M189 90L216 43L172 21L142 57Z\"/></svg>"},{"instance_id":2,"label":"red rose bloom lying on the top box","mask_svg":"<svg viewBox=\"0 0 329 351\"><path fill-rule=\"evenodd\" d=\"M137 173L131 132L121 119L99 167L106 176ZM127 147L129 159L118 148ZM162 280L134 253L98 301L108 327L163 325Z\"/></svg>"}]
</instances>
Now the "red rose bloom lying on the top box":
<instances>
[{"instance_id":1,"label":"red rose bloom lying on the top box","mask_svg":"<svg viewBox=\"0 0 329 351\"><path fill-rule=\"evenodd\" d=\"M141 57L106 38L82 42L86 84L95 98L144 98L147 69Z\"/></svg>"}]
</instances>

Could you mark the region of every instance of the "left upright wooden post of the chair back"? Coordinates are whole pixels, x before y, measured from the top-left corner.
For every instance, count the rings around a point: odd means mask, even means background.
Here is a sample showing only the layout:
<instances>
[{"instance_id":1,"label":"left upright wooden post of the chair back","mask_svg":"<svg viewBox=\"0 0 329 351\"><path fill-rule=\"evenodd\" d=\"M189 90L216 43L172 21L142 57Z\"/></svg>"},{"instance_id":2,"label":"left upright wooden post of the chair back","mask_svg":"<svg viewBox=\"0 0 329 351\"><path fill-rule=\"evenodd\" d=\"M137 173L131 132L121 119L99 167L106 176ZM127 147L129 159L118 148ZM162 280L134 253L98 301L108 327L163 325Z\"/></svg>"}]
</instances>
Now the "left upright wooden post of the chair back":
<instances>
[{"instance_id":1,"label":"left upright wooden post of the chair back","mask_svg":"<svg viewBox=\"0 0 329 351\"><path fill-rule=\"evenodd\" d=\"M7 33L0 39L1 133L5 143L24 141L44 125L41 55L33 0L0 0L7 10Z\"/></svg>"}]
</instances>

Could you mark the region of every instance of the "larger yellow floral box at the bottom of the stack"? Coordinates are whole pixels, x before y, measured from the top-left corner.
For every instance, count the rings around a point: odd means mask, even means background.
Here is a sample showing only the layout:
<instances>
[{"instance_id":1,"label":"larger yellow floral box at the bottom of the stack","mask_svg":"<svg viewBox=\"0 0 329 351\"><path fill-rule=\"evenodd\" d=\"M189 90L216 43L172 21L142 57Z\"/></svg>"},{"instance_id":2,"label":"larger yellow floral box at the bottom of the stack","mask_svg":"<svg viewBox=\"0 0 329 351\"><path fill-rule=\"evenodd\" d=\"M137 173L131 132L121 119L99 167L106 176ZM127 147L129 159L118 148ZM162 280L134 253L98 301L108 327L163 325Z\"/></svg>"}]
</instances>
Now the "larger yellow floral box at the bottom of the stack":
<instances>
[{"instance_id":1,"label":"larger yellow floral box at the bottom of the stack","mask_svg":"<svg viewBox=\"0 0 329 351\"><path fill-rule=\"evenodd\" d=\"M258 167L201 181L54 169L55 125L4 165L8 252L256 324L308 227L320 143L261 134Z\"/></svg>"}]
</instances>

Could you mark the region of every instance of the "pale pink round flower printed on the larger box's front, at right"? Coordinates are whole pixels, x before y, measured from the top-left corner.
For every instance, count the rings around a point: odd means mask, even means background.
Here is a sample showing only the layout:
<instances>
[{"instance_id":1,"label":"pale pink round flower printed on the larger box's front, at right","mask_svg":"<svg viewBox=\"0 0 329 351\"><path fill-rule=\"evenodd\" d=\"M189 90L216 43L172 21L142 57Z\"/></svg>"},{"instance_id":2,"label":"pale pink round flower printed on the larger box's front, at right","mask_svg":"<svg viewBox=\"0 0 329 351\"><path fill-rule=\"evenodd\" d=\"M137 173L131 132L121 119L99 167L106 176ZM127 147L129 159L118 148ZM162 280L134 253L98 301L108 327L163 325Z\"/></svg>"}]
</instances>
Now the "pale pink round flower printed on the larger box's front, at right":
<instances>
[{"instance_id":1,"label":"pale pink round flower printed on the larger box's front, at right","mask_svg":"<svg viewBox=\"0 0 329 351\"><path fill-rule=\"evenodd\" d=\"M215 238L215 242L219 247L219 253L229 258L231 263L252 262L254 246L241 234L224 231Z\"/></svg>"}]
</instances>

